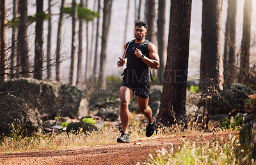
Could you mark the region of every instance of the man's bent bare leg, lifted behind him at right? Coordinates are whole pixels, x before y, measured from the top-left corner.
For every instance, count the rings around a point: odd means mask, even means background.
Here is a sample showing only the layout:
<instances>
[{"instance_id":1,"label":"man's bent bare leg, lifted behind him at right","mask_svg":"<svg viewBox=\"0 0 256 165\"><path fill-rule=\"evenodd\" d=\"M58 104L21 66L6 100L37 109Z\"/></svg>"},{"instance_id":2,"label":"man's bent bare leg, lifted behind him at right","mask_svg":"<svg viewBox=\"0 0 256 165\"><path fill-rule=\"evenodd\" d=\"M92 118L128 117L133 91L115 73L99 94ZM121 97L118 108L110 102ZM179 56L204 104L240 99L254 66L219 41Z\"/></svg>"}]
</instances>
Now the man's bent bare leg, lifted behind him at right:
<instances>
[{"instance_id":1,"label":"man's bent bare leg, lifted behind him at right","mask_svg":"<svg viewBox=\"0 0 256 165\"><path fill-rule=\"evenodd\" d=\"M148 107L148 99L149 99L149 97L141 98L141 97L137 96L138 106L139 106L141 113L143 113L145 115L145 117L148 120L148 123L152 123L153 122L152 111L151 111L150 107Z\"/></svg>"}]
</instances>

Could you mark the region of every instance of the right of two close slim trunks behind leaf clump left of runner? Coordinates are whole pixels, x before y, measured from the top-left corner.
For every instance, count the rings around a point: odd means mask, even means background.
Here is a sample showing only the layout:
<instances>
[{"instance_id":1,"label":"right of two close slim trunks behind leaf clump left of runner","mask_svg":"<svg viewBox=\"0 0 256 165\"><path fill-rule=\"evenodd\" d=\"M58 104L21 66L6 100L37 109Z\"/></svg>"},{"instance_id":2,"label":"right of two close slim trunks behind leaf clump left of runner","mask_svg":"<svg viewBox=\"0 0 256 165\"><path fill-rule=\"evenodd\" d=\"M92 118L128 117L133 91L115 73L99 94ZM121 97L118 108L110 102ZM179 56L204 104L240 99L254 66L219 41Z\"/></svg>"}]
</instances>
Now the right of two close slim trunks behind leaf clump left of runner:
<instances>
[{"instance_id":1,"label":"right of two close slim trunks behind leaf clump left of runner","mask_svg":"<svg viewBox=\"0 0 256 165\"><path fill-rule=\"evenodd\" d=\"M84 1L81 0L80 7L84 6ZM77 58L77 75L76 75L76 85L79 83L81 70L82 70L82 61L83 61L83 19L79 18L79 31L78 31L78 58Z\"/></svg>"}]
</instances>

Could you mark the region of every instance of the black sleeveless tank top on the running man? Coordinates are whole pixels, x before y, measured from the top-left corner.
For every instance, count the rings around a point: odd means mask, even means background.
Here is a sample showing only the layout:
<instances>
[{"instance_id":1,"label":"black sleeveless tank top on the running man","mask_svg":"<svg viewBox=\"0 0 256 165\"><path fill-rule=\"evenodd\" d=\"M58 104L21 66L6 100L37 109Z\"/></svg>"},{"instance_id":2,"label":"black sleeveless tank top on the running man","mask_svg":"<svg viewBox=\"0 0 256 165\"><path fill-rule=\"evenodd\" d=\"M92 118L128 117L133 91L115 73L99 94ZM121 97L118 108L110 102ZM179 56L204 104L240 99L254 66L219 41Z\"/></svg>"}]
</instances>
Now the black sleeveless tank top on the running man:
<instances>
[{"instance_id":1,"label":"black sleeveless tank top on the running man","mask_svg":"<svg viewBox=\"0 0 256 165\"><path fill-rule=\"evenodd\" d=\"M127 72L136 73L139 79L148 80L149 67L134 54L135 49L140 49L142 54L149 58L148 44L151 43L145 40L142 43L131 42L127 48ZM129 75L128 75L129 76Z\"/></svg>"}]
</instances>

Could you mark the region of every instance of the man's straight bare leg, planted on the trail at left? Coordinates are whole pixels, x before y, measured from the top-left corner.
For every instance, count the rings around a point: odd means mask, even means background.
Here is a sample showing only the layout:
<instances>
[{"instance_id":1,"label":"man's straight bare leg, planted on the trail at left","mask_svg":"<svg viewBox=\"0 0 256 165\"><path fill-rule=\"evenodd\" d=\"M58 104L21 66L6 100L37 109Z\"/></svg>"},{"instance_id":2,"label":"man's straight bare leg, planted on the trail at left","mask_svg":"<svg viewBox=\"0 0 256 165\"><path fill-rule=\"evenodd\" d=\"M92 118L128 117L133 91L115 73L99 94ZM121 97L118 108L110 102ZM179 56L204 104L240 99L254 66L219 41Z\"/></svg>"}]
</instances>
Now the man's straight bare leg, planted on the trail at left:
<instances>
[{"instance_id":1,"label":"man's straight bare leg, planted on the trail at left","mask_svg":"<svg viewBox=\"0 0 256 165\"><path fill-rule=\"evenodd\" d=\"M120 118L122 122L123 131L128 134L129 110L128 104L132 98L133 92L126 86L120 88Z\"/></svg>"}]
</instances>

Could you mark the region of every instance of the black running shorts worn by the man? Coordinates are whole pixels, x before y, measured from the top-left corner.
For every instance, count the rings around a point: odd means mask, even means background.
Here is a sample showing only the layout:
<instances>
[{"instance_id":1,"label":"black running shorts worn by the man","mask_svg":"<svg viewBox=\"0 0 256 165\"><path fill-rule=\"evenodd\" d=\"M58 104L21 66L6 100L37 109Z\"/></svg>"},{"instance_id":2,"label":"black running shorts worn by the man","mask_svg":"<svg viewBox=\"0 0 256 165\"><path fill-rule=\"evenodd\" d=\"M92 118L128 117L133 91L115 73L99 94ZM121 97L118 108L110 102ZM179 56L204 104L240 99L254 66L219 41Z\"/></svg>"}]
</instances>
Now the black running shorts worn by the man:
<instances>
[{"instance_id":1,"label":"black running shorts worn by the man","mask_svg":"<svg viewBox=\"0 0 256 165\"><path fill-rule=\"evenodd\" d=\"M148 80L131 79L127 75L123 77L123 83L121 86L126 86L131 89L135 95L141 98L148 98L150 92L150 82Z\"/></svg>"}]
</instances>

